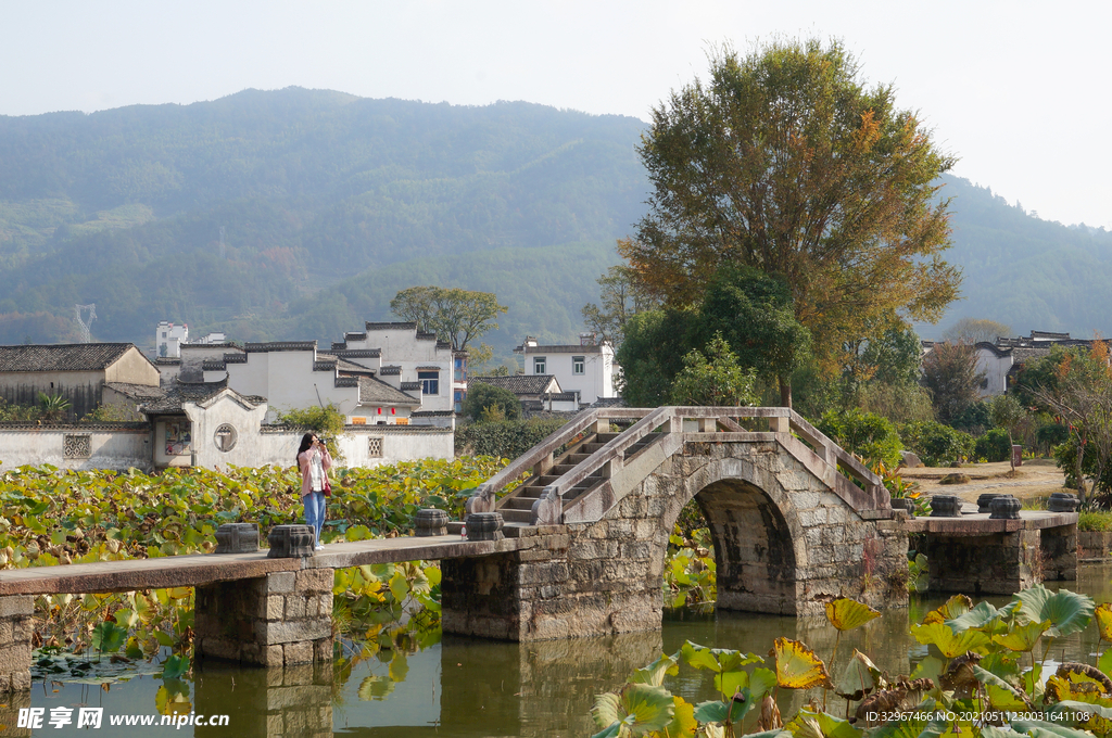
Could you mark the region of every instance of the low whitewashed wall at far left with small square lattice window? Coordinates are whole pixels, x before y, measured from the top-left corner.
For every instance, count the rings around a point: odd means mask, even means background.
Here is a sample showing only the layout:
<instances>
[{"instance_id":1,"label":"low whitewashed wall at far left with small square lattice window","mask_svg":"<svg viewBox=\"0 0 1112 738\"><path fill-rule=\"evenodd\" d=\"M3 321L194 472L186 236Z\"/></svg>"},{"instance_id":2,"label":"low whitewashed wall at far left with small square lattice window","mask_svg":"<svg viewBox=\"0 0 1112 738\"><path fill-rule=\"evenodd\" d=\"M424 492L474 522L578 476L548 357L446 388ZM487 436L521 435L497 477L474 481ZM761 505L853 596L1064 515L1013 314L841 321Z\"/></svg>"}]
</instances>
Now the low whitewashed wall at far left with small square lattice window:
<instances>
[{"instance_id":1,"label":"low whitewashed wall at far left with small square lattice window","mask_svg":"<svg viewBox=\"0 0 1112 738\"><path fill-rule=\"evenodd\" d=\"M64 439L68 435L90 436L92 455L67 459ZM97 426L23 426L0 425L0 471L24 465L50 463L60 469L119 469L135 467L143 471L151 463L150 428L146 423L112 427Z\"/></svg>"}]
</instances>

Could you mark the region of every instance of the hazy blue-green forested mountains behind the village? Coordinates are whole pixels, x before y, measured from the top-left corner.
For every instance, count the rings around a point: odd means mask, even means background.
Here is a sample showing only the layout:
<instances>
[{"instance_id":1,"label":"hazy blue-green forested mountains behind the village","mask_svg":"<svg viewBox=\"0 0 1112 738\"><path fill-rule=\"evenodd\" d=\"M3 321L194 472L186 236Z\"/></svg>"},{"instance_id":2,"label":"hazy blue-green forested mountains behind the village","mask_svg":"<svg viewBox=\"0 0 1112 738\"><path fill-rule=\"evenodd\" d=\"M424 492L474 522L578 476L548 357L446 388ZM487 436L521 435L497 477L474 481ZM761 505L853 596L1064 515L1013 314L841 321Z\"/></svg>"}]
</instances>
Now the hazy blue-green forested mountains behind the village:
<instances>
[{"instance_id":1,"label":"hazy blue-green forested mountains behind the village","mask_svg":"<svg viewBox=\"0 0 1112 738\"><path fill-rule=\"evenodd\" d=\"M573 341L648 182L645 123L525 102L455 107L289 88L0 117L0 342L337 340L406 287L493 291L486 340ZM962 317L1108 333L1112 235L950 179ZM222 239L221 239L222 229Z\"/></svg>"}]
</instances>

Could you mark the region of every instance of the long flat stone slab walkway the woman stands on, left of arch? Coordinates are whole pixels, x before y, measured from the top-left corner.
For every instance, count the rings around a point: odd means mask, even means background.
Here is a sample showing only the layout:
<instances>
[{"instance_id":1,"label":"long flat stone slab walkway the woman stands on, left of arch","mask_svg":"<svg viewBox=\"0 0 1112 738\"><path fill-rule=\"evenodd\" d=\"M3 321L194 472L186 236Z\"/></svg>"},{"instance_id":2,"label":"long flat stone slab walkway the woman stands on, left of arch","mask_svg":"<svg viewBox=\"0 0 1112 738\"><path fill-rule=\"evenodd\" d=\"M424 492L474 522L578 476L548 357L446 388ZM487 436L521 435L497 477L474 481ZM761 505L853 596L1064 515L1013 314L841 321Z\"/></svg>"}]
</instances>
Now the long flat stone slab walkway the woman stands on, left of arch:
<instances>
[{"instance_id":1,"label":"long flat stone slab walkway the woman stands on, left of arch","mask_svg":"<svg viewBox=\"0 0 1112 738\"><path fill-rule=\"evenodd\" d=\"M267 551L260 550L252 554L198 554L8 569L0 574L0 596L197 587L252 579L275 571L487 556L533 548L544 541L545 538L538 535L498 541L466 541L458 536L401 537L328 545L324 551L304 559L268 559Z\"/></svg>"}]
</instances>

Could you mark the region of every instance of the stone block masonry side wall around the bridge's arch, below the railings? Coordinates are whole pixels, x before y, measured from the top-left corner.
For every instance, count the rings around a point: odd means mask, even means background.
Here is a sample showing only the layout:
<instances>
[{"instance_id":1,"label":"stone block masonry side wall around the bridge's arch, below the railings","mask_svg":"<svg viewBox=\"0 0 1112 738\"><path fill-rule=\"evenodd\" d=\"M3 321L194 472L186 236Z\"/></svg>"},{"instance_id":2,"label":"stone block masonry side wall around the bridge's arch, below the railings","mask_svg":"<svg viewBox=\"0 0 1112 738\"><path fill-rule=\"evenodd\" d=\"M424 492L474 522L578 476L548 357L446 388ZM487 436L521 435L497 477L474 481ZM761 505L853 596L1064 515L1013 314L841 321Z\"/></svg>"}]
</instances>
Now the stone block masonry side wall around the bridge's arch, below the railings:
<instances>
[{"instance_id":1,"label":"stone block masonry side wall around the bridge's arch, below the railings","mask_svg":"<svg viewBox=\"0 0 1112 738\"><path fill-rule=\"evenodd\" d=\"M446 559L445 632L532 641L659 629L668 536L693 498L714 538L719 608L820 615L838 597L906 604L900 525L863 518L775 440L685 443L602 519L529 548Z\"/></svg>"}]
</instances>

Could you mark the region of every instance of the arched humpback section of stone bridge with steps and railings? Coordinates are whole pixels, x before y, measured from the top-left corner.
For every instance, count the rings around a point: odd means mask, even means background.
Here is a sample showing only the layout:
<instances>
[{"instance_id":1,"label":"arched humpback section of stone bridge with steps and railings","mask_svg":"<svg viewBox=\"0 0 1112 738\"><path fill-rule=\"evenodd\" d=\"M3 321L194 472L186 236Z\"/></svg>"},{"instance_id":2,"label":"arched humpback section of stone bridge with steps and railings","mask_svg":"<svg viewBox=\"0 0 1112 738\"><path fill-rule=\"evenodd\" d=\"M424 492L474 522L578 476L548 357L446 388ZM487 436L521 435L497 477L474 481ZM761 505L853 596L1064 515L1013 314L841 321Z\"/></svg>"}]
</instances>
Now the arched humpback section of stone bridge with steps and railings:
<instances>
[{"instance_id":1,"label":"arched humpback section of stone bridge with steps and railings","mask_svg":"<svg viewBox=\"0 0 1112 738\"><path fill-rule=\"evenodd\" d=\"M445 560L445 630L534 640L659 628L668 537L692 499L714 538L719 608L906 602L907 535L887 491L794 411L614 408L577 418L477 489L470 512L497 510L507 536L542 538Z\"/></svg>"}]
</instances>

